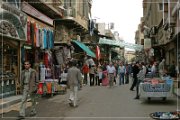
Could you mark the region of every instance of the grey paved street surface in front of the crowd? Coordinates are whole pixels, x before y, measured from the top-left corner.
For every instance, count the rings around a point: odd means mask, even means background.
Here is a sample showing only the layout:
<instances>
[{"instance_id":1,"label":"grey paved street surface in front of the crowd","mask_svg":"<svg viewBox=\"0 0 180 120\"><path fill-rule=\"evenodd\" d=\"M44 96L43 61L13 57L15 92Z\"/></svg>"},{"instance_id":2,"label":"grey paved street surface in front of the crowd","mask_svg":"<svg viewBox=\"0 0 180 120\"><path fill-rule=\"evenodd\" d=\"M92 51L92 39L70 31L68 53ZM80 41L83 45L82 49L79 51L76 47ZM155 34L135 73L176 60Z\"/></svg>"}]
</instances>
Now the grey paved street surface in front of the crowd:
<instances>
[{"instance_id":1,"label":"grey paved street surface in front of the crowd","mask_svg":"<svg viewBox=\"0 0 180 120\"><path fill-rule=\"evenodd\" d=\"M68 93L49 98L40 98L36 119L146 120L151 119L149 113L156 111L175 111L177 109L177 98L175 96L168 98L166 101L162 101L160 98L152 99L151 101L144 99L135 100L133 98L136 91L130 91L129 88L130 84L114 86L113 88L84 86L79 91L79 106L77 108L72 108L68 105ZM14 110L3 114L5 120L16 119L17 116L18 105ZM28 120L30 117L26 119Z\"/></svg>"}]
</instances>

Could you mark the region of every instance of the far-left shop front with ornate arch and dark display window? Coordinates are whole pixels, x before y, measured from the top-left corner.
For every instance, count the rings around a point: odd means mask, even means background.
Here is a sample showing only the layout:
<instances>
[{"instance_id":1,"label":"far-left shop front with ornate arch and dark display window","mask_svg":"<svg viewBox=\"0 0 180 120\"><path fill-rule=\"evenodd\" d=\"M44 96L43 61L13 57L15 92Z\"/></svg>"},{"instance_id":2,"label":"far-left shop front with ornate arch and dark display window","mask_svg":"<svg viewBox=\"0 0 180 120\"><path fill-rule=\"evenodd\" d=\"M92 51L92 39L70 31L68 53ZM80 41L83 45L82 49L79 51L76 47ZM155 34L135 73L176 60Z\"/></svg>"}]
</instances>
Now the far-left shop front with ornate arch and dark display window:
<instances>
[{"instance_id":1,"label":"far-left shop front with ornate arch and dark display window","mask_svg":"<svg viewBox=\"0 0 180 120\"><path fill-rule=\"evenodd\" d=\"M26 41L27 15L20 11L20 3L11 3L0 4L0 98L19 92L20 46Z\"/></svg>"}]
</instances>

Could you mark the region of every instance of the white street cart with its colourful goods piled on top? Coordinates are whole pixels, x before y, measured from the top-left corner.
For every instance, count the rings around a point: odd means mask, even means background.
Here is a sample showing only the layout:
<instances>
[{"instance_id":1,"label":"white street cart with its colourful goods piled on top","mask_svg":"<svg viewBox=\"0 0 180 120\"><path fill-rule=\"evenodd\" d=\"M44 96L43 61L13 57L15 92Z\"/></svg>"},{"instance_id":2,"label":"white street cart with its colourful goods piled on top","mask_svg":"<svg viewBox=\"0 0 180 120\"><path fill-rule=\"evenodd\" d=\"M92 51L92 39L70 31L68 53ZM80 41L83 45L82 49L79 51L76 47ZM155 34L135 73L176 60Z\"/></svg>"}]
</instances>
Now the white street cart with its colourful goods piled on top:
<instances>
[{"instance_id":1,"label":"white street cart with its colourful goods piled on top","mask_svg":"<svg viewBox=\"0 0 180 120\"><path fill-rule=\"evenodd\" d=\"M141 98L166 98L171 97L173 93L173 80L169 77L145 78L139 85L139 94Z\"/></svg>"}]
</instances>

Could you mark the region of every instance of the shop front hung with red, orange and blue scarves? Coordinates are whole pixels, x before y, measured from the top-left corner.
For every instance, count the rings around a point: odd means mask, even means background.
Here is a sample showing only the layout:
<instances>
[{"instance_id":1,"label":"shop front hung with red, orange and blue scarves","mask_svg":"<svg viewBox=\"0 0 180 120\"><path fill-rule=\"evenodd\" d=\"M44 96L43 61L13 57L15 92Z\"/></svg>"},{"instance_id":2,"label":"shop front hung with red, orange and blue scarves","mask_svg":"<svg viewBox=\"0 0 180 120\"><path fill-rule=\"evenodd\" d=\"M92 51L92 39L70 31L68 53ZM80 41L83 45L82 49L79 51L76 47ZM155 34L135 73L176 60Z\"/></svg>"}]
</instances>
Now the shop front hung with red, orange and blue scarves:
<instances>
[{"instance_id":1,"label":"shop front hung with red, orange and blue scarves","mask_svg":"<svg viewBox=\"0 0 180 120\"><path fill-rule=\"evenodd\" d=\"M21 59L30 61L37 71L39 94L53 94L59 89L61 68L57 65L54 51L54 24L53 19L41 13L36 8L22 3L22 10L27 17L27 41L21 50ZM41 17L39 17L41 16Z\"/></svg>"}]
</instances>

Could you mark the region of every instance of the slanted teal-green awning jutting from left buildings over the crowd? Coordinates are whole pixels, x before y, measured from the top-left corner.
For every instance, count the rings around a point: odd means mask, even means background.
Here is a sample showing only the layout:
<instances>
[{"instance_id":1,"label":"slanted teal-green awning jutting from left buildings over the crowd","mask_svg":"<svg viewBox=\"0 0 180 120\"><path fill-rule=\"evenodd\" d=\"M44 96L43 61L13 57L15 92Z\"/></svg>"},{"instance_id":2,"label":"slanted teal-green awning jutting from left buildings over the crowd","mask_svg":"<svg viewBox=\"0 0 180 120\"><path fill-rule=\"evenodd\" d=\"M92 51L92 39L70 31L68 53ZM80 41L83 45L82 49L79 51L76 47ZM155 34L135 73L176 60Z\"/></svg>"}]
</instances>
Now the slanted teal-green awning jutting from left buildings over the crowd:
<instances>
[{"instance_id":1,"label":"slanted teal-green awning jutting from left buildings over the crowd","mask_svg":"<svg viewBox=\"0 0 180 120\"><path fill-rule=\"evenodd\" d=\"M89 47L86 46L84 43L82 43L80 41L77 41L77 40L72 40L72 42L76 43L81 49L83 49L86 52L87 55L96 58L95 53L93 51L91 51L89 49Z\"/></svg>"}]
</instances>

